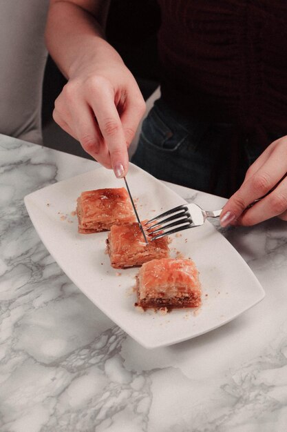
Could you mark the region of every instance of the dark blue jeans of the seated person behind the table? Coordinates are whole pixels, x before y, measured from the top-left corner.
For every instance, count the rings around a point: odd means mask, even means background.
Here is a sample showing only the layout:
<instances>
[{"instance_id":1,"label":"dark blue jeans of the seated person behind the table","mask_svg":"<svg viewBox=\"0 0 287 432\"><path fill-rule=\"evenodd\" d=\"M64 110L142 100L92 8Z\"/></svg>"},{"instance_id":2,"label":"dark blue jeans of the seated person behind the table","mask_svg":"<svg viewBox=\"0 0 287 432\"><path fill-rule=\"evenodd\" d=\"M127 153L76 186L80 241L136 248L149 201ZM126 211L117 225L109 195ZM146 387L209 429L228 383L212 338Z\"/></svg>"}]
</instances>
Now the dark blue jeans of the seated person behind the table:
<instances>
[{"instance_id":1,"label":"dark blue jeans of the seated person behind the table","mask_svg":"<svg viewBox=\"0 0 287 432\"><path fill-rule=\"evenodd\" d=\"M268 144L282 135L268 134ZM263 150L256 137L249 139L231 124L189 119L158 99L131 161L158 179L229 197Z\"/></svg>"}]
</instances>

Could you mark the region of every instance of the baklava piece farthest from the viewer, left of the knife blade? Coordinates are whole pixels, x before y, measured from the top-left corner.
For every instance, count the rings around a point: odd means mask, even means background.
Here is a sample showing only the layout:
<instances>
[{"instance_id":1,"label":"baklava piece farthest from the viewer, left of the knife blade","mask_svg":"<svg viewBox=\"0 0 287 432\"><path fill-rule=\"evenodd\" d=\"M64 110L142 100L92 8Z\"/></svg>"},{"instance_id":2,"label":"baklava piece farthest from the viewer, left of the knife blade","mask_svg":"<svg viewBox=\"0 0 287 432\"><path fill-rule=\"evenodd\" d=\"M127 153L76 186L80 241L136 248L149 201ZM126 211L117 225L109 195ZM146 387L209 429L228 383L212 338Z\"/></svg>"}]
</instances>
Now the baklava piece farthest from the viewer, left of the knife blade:
<instances>
[{"instance_id":1,"label":"baklava piece farthest from the viewer, left of the knife blade","mask_svg":"<svg viewBox=\"0 0 287 432\"><path fill-rule=\"evenodd\" d=\"M134 210L125 188L87 190L78 197L78 232L99 233L114 224L134 222Z\"/></svg>"}]
</instances>

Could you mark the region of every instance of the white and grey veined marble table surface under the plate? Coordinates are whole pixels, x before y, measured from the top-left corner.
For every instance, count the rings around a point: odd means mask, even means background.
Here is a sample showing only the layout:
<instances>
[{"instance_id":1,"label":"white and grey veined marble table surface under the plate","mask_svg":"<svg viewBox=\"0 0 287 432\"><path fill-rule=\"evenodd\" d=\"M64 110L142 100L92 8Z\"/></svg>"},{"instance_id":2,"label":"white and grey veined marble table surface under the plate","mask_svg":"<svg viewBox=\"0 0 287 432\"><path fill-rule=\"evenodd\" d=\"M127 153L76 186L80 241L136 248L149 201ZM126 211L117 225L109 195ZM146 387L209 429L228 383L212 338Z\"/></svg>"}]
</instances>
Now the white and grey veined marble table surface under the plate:
<instances>
[{"instance_id":1,"label":"white and grey veined marble table surface under the plate","mask_svg":"<svg viewBox=\"0 0 287 432\"><path fill-rule=\"evenodd\" d=\"M0 164L1 432L287 431L286 222L222 230L264 287L262 302L147 350L61 271L23 203L96 162L0 135ZM224 204L170 186L206 208Z\"/></svg>"}]
</instances>

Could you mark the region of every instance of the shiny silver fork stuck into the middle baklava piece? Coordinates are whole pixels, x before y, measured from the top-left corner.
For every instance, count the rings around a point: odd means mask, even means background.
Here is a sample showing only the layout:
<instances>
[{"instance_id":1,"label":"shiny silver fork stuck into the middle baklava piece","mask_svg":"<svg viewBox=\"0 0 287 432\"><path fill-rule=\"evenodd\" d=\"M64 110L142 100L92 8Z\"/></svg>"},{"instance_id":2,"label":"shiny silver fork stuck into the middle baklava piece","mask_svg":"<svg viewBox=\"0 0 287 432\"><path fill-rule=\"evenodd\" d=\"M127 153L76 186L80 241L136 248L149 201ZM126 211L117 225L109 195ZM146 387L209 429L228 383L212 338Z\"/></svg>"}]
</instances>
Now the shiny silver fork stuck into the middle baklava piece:
<instances>
[{"instance_id":1,"label":"shiny silver fork stuck into the middle baklava piece","mask_svg":"<svg viewBox=\"0 0 287 432\"><path fill-rule=\"evenodd\" d=\"M195 228L196 226L201 226L204 224L207 217L218 217L220 216L221 212L222 208L220 210L211 211L203 210L200 206L198 206L198 204L194 203L182 204L182 206L171 208L171 210L165 211L164 213L161 213L160 215L147 221L145 223L146 231L151 241L153 241L155 239L159 239L160 237L164 237L165 235L178 233L178 231ZM166 231L167 228L172 228L173 226L176 228Z\"/></svg>"}]
</instances>

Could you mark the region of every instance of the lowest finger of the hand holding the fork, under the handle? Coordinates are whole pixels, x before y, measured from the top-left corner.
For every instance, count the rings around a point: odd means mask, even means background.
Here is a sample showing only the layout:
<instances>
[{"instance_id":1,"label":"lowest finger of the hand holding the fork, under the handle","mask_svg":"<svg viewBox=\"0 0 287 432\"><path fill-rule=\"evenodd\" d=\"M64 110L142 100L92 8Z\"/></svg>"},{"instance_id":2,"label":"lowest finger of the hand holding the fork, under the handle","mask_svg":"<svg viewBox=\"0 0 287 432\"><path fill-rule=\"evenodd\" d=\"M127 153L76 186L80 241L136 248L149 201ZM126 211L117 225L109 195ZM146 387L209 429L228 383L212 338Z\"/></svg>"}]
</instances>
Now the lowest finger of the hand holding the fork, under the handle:
<instances>
[{"instance_id":1,"label":"lowest finger of the hand holding the fork, under the handle","mask_svg":"<svg viewBox=\"0 0 287 432\"><path fill-rule=\"evenodd\" d=\"M287 179L285 177L273 192L246 210L239 217L237 223L244 226L251 226L275 216L284 218L286 210Z\"/></svg>"}]
</instances>

